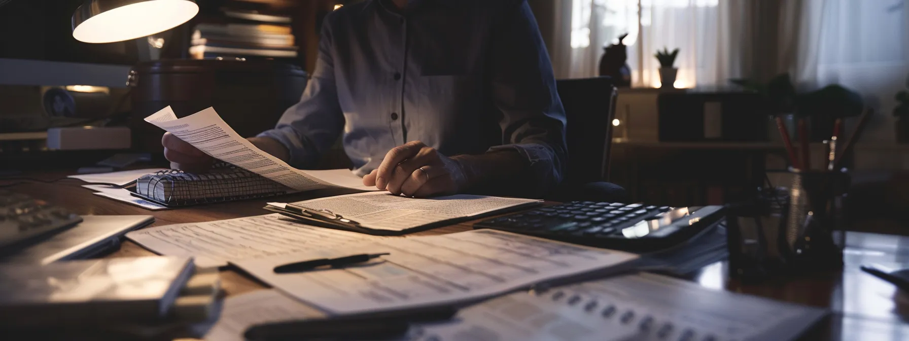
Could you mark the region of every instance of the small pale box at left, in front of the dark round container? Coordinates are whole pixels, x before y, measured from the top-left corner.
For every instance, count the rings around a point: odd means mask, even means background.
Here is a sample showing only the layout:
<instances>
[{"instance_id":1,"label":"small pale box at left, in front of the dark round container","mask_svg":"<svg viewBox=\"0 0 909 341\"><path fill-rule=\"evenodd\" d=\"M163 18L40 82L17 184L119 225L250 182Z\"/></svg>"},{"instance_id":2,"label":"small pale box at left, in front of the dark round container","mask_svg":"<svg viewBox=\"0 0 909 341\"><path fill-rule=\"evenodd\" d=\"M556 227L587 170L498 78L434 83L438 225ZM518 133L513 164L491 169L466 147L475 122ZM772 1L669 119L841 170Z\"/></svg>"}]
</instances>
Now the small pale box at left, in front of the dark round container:
<instances>
[{"instance_id":1,"label":"small pale box at left, in front of the dark round container","mask_svg":"<svg viewBox=\"0 0 909 341\"><path fill-rule=\"evenodd\" d=\"M130 130L125 126L74 126L47 129L47 148L55 150L129 149Z\"/></svg>"}]
</instances>

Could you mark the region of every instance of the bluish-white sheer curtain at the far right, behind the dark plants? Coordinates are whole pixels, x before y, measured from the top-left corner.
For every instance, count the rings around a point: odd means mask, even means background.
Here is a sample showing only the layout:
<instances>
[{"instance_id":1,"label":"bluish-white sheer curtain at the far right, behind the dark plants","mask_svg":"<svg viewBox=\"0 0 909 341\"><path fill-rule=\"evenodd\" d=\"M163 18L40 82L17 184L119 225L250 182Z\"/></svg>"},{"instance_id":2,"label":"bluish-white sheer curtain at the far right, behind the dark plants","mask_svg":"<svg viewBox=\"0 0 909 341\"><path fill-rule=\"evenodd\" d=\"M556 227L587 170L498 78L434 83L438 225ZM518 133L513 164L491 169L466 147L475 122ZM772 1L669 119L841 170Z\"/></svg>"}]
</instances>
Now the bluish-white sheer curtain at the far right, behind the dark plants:
<instances>
[{"instance_id":1,"label":"bluish-white sheer curtain at the far right, behind the dark plants","mask_svg":"<svg viewBox=\"0 0 909 341\"><path fill-rule=\"evenodd\" d=\"M788 39L783 64L804 90L839 84L864 96L878 113L863 141L894 141L894 95L909 78L909 0L797 0L784 16L797 25L781 29Z\"/></svg>"}]
</instances>

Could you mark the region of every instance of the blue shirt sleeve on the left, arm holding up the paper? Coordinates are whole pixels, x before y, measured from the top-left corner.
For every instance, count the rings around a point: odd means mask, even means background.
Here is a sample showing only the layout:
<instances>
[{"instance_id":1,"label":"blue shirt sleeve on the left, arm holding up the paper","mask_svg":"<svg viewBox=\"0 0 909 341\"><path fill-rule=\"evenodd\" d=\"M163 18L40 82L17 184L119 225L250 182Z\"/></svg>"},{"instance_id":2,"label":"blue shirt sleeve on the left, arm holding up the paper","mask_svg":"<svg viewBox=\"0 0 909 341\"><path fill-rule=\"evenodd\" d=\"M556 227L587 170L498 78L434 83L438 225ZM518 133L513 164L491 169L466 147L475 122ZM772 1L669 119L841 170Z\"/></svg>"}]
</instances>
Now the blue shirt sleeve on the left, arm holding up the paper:
<instances>
[{"instance_id":1,"label":"blue shirt sleeve on the left, arm holding up the paper","mask_svg":"<svg viewBox=\"0 0 909 341\"><path fill-rule=\"evenodd\" d=\"M274 138L285 145L290 152L288 163L297 168L315 165L344 129L344 115L335 87L330 16L325 17L315 71L300 102L287 108L275 129L258 135Z\"/></svg>"}]
</instances>

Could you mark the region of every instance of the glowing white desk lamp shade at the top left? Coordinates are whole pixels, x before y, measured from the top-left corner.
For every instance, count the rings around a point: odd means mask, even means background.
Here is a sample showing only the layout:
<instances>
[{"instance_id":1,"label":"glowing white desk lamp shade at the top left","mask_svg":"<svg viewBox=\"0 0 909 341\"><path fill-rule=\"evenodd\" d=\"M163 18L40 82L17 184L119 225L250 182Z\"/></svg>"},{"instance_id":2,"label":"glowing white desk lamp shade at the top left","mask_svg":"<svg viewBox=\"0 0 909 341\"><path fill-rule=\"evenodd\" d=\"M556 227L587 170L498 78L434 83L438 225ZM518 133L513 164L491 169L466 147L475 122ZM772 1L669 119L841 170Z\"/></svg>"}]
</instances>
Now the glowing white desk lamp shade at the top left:
<instances>
[{"instance_id":1,"label":"glowing white desk lamp shade at the top left","mask_svg":"<svg viewBox=\"0 0 909 341\"><path fill-rule=\"evenodd\" d=\"M120 42L169 30L198 13L194 0L85 0L73 14L73 37Z\"/></svg>"}]
</instances>

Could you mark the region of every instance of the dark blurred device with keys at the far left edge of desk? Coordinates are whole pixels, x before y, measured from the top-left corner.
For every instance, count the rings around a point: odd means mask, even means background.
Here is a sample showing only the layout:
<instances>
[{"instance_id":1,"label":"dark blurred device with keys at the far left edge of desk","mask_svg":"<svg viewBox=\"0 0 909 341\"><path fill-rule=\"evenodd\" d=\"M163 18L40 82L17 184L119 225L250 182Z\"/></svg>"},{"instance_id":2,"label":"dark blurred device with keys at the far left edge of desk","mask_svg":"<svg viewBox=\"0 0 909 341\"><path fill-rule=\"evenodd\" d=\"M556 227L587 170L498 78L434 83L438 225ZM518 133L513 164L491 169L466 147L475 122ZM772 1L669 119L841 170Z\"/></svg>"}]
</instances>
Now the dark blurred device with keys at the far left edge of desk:
<instances>
[{"instance_id":1,"label":"dark blurred device with keys at the far left edge of desk","mask_svg":"<svg viewBox=\"0 0 909 341\"><path fill-rule=\"evenodd\" d=\"M23 194L0 190L0 254L19 250L29 242L82 222L63 207Z\"/></svg>"}]
</instances>

